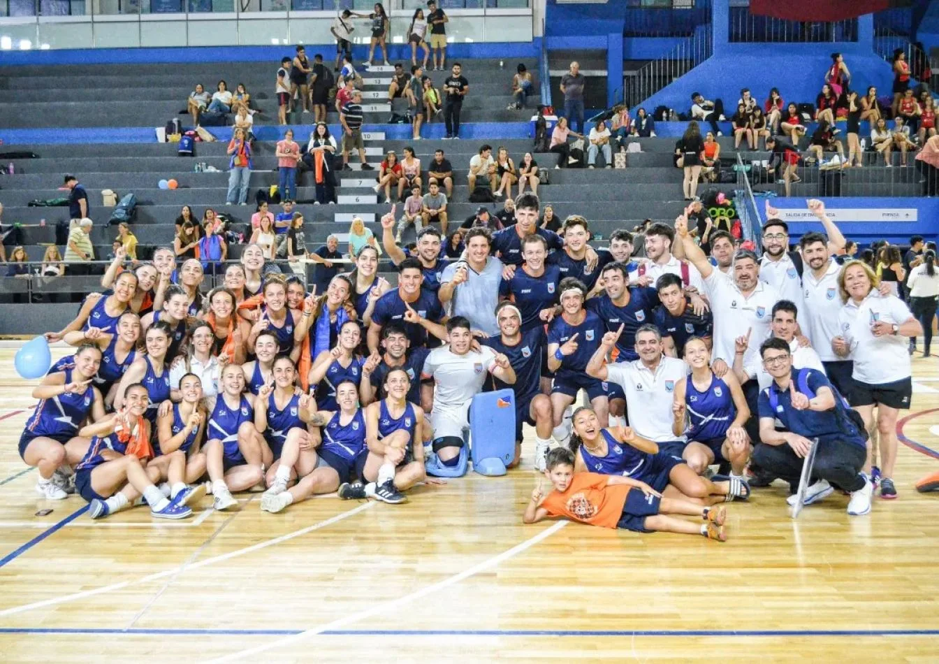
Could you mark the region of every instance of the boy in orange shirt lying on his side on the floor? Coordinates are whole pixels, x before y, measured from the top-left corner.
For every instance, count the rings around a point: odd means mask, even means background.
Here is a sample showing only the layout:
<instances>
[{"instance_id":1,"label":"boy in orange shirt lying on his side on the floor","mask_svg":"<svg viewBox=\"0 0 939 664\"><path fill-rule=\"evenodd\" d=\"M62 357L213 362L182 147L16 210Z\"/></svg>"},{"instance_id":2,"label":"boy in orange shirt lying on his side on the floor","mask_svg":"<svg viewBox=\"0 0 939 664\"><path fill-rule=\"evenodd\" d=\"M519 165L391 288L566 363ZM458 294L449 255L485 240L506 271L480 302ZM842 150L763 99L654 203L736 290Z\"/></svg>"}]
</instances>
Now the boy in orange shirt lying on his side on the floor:
<instances>
[{"instance_id":1,"label":"boy in orange shirt lying on his side on the floor","mask_svg":"<svg viewBox=\"0 0 939 664\"><path fill-rule=\"evenodd\" d=\"M564 447L547 455L547 479L554 490L547 495L541 485L531 492L522 520L537 523L546 517L567 517L603 528L623 528L638 533L701 534L727 541L724 507L704 507L694 502L662 498L652 486L621 475L574 472L574 455ZM664 513L664 514L663 514ZM700 525L671 514L701 517Z\"/></svg>"}]
</instances>

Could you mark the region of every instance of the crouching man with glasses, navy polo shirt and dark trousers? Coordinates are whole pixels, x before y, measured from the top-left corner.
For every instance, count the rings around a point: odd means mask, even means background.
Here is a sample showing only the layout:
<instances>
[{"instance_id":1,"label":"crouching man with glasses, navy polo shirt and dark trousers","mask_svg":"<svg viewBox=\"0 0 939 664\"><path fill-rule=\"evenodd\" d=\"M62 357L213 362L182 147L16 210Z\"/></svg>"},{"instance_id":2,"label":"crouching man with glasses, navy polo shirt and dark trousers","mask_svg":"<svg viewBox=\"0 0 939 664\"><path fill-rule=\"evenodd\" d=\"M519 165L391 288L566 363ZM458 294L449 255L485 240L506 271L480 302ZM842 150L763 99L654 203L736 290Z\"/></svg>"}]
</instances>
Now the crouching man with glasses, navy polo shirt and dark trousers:
<instances>
[{"instance_id":1,"label":"crouching man with glasses, navy polo shirt and dark trousers","mask_svg":"<svg viewBox=\"0 0 939 664\"><path fill-rule=\"evenodd\" d=\"M848 514L870 512L873 485L861 472L867 458L867 440L824 374L794 369L789 344L767 339L760 347L762 365L773 382L760 393L760 440L753 460L763 471L789 482L793 494L799 486L802 464L812 440L818 440L815 465L804 504L830 495L835 486L849 492ZM794 495L790 504L794 504Z\"/></svg>"}]
</instances>

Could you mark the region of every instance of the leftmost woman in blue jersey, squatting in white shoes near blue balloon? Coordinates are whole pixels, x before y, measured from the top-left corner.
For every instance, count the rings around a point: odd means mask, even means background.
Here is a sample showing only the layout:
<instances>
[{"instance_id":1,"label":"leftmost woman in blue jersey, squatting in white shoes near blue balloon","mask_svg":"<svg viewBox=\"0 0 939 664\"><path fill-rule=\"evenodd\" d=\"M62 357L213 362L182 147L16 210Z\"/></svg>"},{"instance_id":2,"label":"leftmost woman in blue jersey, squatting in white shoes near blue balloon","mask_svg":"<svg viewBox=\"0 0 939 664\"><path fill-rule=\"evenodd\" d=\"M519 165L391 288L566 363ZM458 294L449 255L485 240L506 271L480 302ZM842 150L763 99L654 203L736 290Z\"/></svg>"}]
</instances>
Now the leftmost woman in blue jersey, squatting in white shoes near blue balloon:
<instances>
[{"instance_id":1,"label":"leftmost woman in blue jersey, squatting in white shoes near blue balloon","mask_svg":"<svg viewBox=\"0 0 939 664\"><path fill-rule=\"evenodd\" d=\"M47 375L33 390L39 402L26 420L19 449L26 465L38 469L36 490L47 499L68 498L69 466L88 449L89 440L79 436L79 429L86 419L104 417L101 395L91 385L100 363L98 347L79 347L72 368Z\"/></svg>"}]
</instances>

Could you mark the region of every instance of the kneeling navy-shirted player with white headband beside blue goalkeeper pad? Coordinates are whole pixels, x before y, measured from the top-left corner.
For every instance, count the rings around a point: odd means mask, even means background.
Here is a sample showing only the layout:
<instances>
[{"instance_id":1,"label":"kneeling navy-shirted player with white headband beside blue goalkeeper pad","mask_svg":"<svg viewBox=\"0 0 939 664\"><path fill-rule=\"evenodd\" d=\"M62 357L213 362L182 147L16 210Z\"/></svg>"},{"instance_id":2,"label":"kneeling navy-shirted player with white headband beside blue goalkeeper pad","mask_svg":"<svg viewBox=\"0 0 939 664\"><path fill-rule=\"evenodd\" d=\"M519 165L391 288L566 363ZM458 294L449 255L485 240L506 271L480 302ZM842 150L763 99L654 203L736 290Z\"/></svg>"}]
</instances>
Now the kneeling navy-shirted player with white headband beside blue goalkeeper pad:
<instances>
[{"instance_id":1,"label":"kneeling navy-shirted player with white headband beside blue goalkeeper pad","mask_svg":"<svg viewBox=\"0 0 939 664\"><path fill-rule=\"evenodd\" d=\"M517 272L516 272L517 274ZM550 449L551 429L554 421L551 416L551 399L541 394L541 363L547 347L547 337L543 327L536 327L528 332L521 332L521 314L515 304L501 302L496 307L496 322L501 334L482 340L488 346L509 359L509 364L516 372L516 381L512 385L492 377L496 390L512 388L516 393L516 458L510 468L518 464L521 458L522 425L527 423L535 429L534 467L545 471L545 460Z\"/></svg>"}]
</instances>

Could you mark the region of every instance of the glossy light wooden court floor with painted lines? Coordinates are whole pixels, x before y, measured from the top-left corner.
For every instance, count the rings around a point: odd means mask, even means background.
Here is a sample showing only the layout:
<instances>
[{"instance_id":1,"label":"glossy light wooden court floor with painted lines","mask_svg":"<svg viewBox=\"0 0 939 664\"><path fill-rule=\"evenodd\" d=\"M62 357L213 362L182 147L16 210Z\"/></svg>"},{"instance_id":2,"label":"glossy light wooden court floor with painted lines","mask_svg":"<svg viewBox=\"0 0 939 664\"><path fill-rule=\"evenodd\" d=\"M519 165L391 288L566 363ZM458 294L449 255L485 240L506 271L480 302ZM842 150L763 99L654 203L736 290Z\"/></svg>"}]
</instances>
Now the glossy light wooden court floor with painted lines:
<instances>
[{"instance_id":1,"label":"glossy light wooden court floor with painted lines","mask_svg":"<svg viewBox=\"0 0 939 664\"><path fill-rule=\"evenodd\" d=\"M34 400L12 356L0 347L4 662L939 660L939 494L913 487L939 462L905 445L900 500L848 517L832 496L795 522L784 487L758 489L731 505L723 545L525 526L528 459L399 506L323 497L269 515L248 494L182 522L92 522L78 496L35 493L16 451ZM902 433L939 450L939 359L914 366Z\"/></svg>"}]
</instances>

